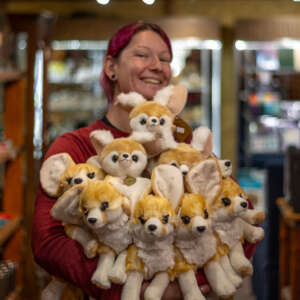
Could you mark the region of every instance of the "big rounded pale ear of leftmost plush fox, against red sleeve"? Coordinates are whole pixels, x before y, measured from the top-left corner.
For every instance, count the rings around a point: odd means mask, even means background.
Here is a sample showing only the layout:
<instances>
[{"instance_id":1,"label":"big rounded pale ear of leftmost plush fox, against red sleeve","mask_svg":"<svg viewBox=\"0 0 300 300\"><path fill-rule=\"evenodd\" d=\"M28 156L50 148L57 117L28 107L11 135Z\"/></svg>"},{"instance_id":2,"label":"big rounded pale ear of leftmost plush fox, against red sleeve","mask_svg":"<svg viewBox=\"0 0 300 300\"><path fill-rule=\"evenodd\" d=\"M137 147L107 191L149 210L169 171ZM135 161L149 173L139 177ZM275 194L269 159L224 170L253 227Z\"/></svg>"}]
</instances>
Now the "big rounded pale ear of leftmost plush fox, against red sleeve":
<instances>
[{"instance_id":1,"label":"big rounded pale ear of leftmost plush fox, against red sleeve","mask_svg":"<svg viewBox=\"0 0 300 300\"><path fill-rule=\"evenodd\" d=\"M51 197L59 196L60 178L66 169L75 165L68 153L58 153L47 158L40 170L43 190Z\"/></svg>"}]
</instances>

